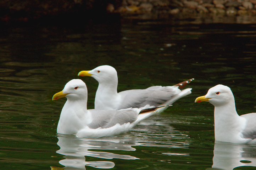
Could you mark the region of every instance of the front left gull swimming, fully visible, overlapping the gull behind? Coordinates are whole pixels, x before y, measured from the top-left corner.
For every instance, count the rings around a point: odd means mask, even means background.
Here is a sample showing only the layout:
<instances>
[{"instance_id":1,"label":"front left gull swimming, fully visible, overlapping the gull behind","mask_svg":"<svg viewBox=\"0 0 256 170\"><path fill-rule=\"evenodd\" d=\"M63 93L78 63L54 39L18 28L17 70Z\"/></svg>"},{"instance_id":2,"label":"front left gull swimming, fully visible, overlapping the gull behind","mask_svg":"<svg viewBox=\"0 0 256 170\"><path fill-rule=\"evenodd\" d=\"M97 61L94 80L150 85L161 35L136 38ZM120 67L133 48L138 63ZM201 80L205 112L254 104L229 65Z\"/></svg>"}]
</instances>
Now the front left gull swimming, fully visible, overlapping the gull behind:
<instances>
[{"instance_id":1,"label":"front left gull swimming, fully visible, overlapping the gull behind","mask_svg":"<svg viewBox=\"0 0 256 170\"><path fill-rule=\"evenodd\" d=\"M73 79L65 85L62 91L52 97L52 100L67 98L60 114L58 134L87 138L118 135L129 131L140 121L168 107L143 110L126 108L119 111L87 110L87 95L85 83L80 79Z\"/></svg>"}]
</instances>

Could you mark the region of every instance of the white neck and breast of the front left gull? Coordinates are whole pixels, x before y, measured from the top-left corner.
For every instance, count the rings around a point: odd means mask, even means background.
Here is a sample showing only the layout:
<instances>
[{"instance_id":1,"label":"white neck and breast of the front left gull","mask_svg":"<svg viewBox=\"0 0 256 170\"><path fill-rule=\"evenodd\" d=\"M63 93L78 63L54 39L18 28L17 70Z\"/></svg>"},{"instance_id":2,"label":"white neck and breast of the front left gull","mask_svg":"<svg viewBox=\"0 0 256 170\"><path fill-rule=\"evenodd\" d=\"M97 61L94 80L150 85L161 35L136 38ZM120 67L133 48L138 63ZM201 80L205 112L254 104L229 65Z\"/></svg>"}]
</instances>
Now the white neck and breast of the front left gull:
<instances>
[{"instance_id":1,"label":"white neck and breast of the front left gull","mask_svg":"<svg viewBox=\"0 0 256 170\"><path fill-rule=\"evenodd\" d=\"M78 130L87 125L87 117L87 98L84 100L67 99L61 111L57 133L75 135Z\"/></svg>"}]
</instances>

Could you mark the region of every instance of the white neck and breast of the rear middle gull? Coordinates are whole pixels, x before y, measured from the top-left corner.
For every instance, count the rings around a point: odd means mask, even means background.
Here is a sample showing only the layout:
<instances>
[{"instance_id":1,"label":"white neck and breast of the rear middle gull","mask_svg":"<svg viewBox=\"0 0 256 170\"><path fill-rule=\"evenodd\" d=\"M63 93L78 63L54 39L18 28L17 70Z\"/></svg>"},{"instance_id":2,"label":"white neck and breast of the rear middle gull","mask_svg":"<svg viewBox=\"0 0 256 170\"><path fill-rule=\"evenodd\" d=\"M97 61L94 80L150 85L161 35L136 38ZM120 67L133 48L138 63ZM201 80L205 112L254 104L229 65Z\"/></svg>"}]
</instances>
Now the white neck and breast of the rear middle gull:
<instances>
[{"instance_id":1,"label":"white neck and breast of the rear middle gull","mask_svg":"<svg viewBox=\"0 0 256 170\"><path fill-rule=\"evenodd\" d=\"M118 80L99 83L95 95L94 108L97 110L115 110L119 106L120 96L117 93Z\"/></svg>"}]
</instances>

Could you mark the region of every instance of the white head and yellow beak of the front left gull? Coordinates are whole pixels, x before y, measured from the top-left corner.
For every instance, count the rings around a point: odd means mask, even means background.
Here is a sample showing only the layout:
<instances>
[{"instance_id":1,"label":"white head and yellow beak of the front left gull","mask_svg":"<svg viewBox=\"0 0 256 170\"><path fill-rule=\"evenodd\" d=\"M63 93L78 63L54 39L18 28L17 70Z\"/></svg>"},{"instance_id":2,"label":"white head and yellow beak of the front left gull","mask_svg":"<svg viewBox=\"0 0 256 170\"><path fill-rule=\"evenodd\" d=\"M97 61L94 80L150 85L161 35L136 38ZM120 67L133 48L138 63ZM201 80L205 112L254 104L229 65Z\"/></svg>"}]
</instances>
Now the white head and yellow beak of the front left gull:
<instances>
[{"instance_id":1,"label":"white head and yellow beak of the front left gull","mask_svg":"<svg viewBox=\"0 0 256 170\"><path fill-rule=\"evenodd\" d=\"M85 83L80 79L70 80L64 87L64 89L56 93L52 100L57 100L62 97L72 98L74 100L86 99L87 87Z\"/></svg>"}]
</instances>

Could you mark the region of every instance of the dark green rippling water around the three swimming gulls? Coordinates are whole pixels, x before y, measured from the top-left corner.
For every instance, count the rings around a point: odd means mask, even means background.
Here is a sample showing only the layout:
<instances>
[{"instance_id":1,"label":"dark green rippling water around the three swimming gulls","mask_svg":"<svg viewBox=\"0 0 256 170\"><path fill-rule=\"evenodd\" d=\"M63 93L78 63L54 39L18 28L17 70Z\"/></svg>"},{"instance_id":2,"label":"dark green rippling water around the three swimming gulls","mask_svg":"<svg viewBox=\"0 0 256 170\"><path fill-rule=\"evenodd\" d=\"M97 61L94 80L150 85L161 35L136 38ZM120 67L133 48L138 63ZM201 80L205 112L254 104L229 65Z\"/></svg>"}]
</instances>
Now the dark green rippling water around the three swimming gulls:
<instances>
[{"instance_id":1,"label":"dark green rippling water around the three swimming gulls","mask_svg":"<svg viewBox=\"0 0 256 170\"><path fill-rule=\"evenodd\" d=\"M110 22L0 30L0 169L255 169L256 147L216 143L213 106L194 103L229 86L238 114L255 112L256 25ZM56 134L65 98L52 95L100 65L117 69L118 90L195 78L192 94L126 134ZM98 84L88 87L94 108Z\"/></svg>"}]
</instances>

